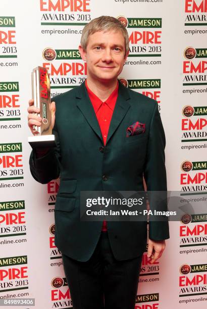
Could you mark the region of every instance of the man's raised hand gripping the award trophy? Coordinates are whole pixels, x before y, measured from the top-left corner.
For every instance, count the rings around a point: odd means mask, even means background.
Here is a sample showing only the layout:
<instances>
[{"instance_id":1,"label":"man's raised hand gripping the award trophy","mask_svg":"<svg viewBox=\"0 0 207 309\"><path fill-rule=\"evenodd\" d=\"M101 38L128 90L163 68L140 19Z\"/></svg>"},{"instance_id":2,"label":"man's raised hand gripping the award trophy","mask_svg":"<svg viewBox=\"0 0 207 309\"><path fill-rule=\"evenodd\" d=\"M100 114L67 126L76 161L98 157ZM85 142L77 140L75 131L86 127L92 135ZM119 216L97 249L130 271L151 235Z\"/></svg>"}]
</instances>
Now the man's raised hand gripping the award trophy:
<instances>
[{"instance_id":1,"label":"man's raised hand gripping the award trophy","mask_svg":"<svg viewBox=\"0 0 207 309\"><path fill-rule=\"evenodd\" d=\"M49 105L49 109L51 111L51 126L52 128L54 127L55 124L55 118L56 118L56 104L55 102L51 102L51 104ZM27 109L28 112L28 126L32 132L33 135L37 134L37 131L35 131L33 129L33 126L41 126L41 117L39 117L38 115L34 114L37 113L39 114L40 110L36 107L34 107L34 100L31 99L29 100L29 107Z\"/></svg>"}]
</instances>

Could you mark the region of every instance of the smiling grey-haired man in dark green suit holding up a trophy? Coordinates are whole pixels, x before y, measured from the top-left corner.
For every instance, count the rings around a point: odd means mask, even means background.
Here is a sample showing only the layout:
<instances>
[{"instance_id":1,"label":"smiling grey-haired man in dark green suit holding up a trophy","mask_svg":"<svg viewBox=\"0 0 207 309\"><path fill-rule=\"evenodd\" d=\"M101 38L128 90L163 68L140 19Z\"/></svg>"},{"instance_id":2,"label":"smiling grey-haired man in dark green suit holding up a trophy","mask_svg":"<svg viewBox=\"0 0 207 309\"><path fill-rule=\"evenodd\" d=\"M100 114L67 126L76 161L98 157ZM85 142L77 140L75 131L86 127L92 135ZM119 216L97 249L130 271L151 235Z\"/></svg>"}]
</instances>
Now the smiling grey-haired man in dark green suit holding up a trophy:
<instances>
[{"instance_id":1,"label":"smiling grey-haired man in dark green suit holding up a trophy","mask_svg":"<svg viewBox=\"0 0 207 309\"><path fill-rule=\"evenodd\" d=\"M165 134L156 101L125 88L118 76L129 54L125 27L101 16L88 23L79 46L87 81L51 104L57 147L35 149L31 173L47 183L60 176L55 243L74 309L134 309L146 248L146 222L80 221L80 191L167 190ZM29 101L28 125L40 125ZM168 222L150 222L153 264L169 238Z\"/></svg>"}]
</instances>

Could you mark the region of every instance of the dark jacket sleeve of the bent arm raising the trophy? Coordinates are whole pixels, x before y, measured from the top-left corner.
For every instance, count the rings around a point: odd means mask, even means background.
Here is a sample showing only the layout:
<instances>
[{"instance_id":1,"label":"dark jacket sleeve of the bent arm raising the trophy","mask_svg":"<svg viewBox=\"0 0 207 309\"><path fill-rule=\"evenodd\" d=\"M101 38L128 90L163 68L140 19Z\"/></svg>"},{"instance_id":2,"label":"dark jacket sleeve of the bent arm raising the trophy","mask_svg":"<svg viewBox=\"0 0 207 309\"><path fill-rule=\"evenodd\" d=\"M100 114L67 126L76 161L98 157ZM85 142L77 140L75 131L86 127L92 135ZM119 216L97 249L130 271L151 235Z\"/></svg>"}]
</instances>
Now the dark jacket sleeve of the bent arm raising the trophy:
<instances>
[{"instance_id":1,"label":"dark jacket sleeve of the bent arm raising the trophy","mask_svg":"<svg viewBox=\"0 0 207 309\"><path fill-rule=\"evenodd\" d=\"M31 174L33 178L40 183L48 183L60 176L61 153L56 124L53 129L53 134L55 135L56 147L51 148L46 155L41 158L36 158L35 150L33 149L29 158Z\"/></svg>"}]
</instances>

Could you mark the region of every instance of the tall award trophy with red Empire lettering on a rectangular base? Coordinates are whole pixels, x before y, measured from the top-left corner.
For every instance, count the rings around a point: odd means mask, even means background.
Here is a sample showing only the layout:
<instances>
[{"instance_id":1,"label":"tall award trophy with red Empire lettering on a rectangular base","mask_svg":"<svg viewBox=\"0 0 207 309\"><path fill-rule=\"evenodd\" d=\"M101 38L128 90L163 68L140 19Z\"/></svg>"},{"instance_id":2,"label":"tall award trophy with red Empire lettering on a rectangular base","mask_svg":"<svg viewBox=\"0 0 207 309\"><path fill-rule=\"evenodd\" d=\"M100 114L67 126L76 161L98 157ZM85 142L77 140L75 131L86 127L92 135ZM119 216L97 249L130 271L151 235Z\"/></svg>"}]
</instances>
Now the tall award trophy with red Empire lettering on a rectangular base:
<instances>
[{"instance_id":1,"label":"tall award trophy with red Empire lettering on a rectangular base","mask_svg":"<svg viewBox=\"0 0 207 309\"><path fill-rule=\"evenodd\" d=\"M32 72L32 98L34 106L40 109L39 116L42 118L41 126L33 126L35 135L28 137L32 148L50 148L56 146L55 135L51 128L50 81L47 70L37 67Z\"/></svg>"}]
</instances>

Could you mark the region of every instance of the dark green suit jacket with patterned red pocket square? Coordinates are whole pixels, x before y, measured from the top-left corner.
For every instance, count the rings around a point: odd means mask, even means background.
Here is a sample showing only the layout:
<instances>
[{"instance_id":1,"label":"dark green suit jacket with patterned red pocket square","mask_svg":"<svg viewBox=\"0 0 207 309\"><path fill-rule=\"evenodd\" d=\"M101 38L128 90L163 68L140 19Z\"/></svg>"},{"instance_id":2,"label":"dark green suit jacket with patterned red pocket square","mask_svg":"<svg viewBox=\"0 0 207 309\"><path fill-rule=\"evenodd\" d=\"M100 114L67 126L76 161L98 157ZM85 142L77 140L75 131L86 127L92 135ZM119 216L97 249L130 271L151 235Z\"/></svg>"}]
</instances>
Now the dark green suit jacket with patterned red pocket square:
<instances>
[{"instance_id":1,"label":"dark green suit jacket with patterned red pocket square","mask_svg":"<svg viewBox=\"0 0 207 309\"><path fill-rule=\"evenodd\" d=\"M53 100L57 147L39 159L32 150L30 170L40 183L60 176L55 243L62 253L84 262L95 249L102 222L80 221L80 191L144 190L143 175L147 190L167 190L165 133L157 102L120 82L104 151L85 84ZM145 124L145 132L126 137L127 128L137 121ZM108 221L108 233L117 260L133 259L146 248L146 222ZM169 238L168 222L150 222L149 238Z\"/></svg>"}]
</instances>

